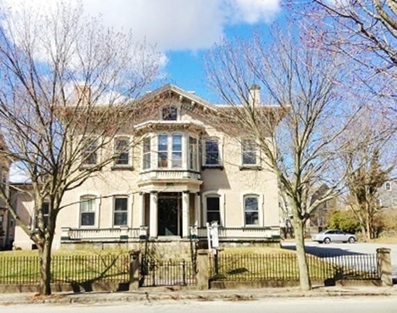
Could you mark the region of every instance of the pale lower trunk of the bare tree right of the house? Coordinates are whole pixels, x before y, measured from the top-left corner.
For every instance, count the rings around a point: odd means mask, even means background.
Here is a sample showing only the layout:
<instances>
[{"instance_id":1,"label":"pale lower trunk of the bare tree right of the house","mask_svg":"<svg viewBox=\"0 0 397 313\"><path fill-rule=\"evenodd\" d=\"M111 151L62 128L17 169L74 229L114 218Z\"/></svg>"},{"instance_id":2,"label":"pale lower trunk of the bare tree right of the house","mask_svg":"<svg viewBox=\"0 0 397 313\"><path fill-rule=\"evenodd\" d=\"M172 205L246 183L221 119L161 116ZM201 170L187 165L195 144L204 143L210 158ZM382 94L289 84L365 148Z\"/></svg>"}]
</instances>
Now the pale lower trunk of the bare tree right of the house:
<instances>
[{"instance_id":1,"label":"pale lower trunk of the bare tree right of the house","mask_svg":"<svg viewBox=\"0 0 397 313\"><path fill-rule=\"evenodd\" d=\"M307 291L311 289L311 282L305 250L305 222L299 218L295 218L294 216L293 224L293 229L295 232L296 255L298 257L300 289Z\"/></svg>"}]
</instances>

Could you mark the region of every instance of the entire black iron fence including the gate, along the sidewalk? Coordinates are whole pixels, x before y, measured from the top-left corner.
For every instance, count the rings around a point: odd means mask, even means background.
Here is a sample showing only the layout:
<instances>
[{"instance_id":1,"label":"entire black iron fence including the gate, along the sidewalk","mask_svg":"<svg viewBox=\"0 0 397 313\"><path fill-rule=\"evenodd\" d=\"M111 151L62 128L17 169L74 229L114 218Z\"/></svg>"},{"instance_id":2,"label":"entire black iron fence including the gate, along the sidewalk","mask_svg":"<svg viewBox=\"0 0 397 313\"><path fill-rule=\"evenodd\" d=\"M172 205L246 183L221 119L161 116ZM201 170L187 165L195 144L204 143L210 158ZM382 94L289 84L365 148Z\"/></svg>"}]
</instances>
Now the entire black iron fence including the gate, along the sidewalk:
<instances>
[{"instance_id":1,"label":"entire black iron fence including the gate, along the sidewalk","mask_svg":"<svg viewBox=\"0 0 397 313\"><path fill-rule=\"evenodd\" d=\"M377 255L307 255L311 280L378 280ZM130 257L120 255L65 255L51 260L51 282L129 282ZM210 257L212 280L298 280L295 254L227 255ZM197 273L185 260L140 260L140 287L192 286ZM0 284L37 284L38 257L0 257Z\"/></svg>"}]
</instances>

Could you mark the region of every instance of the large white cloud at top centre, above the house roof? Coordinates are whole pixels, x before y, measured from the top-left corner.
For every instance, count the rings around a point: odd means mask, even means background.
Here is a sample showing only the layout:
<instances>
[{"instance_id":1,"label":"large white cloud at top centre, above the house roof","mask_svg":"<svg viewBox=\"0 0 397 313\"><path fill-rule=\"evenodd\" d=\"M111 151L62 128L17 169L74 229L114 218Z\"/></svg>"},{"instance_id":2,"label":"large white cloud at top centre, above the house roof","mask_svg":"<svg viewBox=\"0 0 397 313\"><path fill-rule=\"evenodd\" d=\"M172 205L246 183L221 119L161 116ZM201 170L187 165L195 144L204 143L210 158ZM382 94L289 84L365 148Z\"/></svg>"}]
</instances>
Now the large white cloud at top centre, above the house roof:
<instances>
[{"instance_id":1,"label":"large white cloud at top centre, above the house roof","mask_svg":"<svg viewBox=\"0 0 397 313\"><path fill-rule=\"evenodd\" d=\"M16 0L6 0L17 6ZM49 6L55 0L19 0ZM60 1L60 0L59 0ZM76 3L79 0L69 0ZM67 2L67 1L66 1ZM82 0L86 13L102 15L106 26L132 29L138 40L156 43L162 51L206 49L231 24L269 22L279 0Z\"/></svg>"}]
</instances>

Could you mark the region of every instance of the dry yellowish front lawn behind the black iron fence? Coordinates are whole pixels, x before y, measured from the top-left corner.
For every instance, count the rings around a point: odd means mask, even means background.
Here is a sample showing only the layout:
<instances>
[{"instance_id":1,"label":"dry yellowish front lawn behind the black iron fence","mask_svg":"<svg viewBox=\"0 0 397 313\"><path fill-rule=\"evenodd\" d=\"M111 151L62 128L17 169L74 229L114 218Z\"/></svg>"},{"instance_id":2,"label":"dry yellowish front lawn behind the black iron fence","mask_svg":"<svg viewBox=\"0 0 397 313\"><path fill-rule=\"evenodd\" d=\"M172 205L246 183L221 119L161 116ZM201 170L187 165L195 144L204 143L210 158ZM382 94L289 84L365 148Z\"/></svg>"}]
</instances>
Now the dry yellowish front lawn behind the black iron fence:
<instances>
[{"instance_id":1,"label":"dry yellowish front lawn behind the black iron fence","mask_svg":"<svg viewBox=\"0 0 397 313\"><path fill-rule=\"evenodd\" d=\"M351 269L314 255L307 255L312 280L346 275ZM164 263L164 262L163 262ZM179 279L181 266L156 262L154 271L148 268L150 277L164 281ZM213 263L213 259L210 264ZM347 263L348 264L348 263ZM223 248L218 257L218 275L211 265L212 277L217 280L298 280L296 252L273 247ZM38 252L19 250L0 252L0 284L37 283ZM191 277L190 260L186 262L184 277ZM53 282L95 282L129 279L129 255L127 250L54 250L51 273ZM356 279L368 277L366 273L353 271ZM148 275L148 276L149 276ZM186 276L187 275L187 276ZM338 276L339 275L339 276ZM148 277L149 279L149 277Z\"/></svg>"}]
</instances>

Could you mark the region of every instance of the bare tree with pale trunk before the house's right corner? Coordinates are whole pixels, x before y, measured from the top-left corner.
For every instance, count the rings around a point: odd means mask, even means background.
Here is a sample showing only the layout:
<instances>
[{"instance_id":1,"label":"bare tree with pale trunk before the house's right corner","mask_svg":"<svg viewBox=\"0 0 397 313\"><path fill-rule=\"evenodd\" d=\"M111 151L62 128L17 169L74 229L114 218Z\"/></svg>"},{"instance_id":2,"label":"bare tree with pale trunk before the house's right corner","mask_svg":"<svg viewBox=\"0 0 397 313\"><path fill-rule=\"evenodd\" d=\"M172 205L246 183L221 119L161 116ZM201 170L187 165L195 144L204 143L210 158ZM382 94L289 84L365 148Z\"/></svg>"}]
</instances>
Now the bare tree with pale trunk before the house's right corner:
<instances>
[{"instance_id":1,"label":"bare tree with pale trunk before the house's right corner","mask_svg":"<svg viewBox=\"0 0 397 313\"><path fill-rule=\"evenodd\" d=\"M207 56L206 71L229 104L225 127L257 143L289 198L300 287L309 290L305 223L341 191L344 172L337 152L343 150L341 134L358 109L342 102L344 72L334 55L310 49L292 35L275 32L268 42L266 38L259 34L249 42L223 42ZM250 88L252 83L257 85ZM264 105L259 97L274 105ZM314 199L322 184L329 188Z\"/></svg>"}]
</instances>

